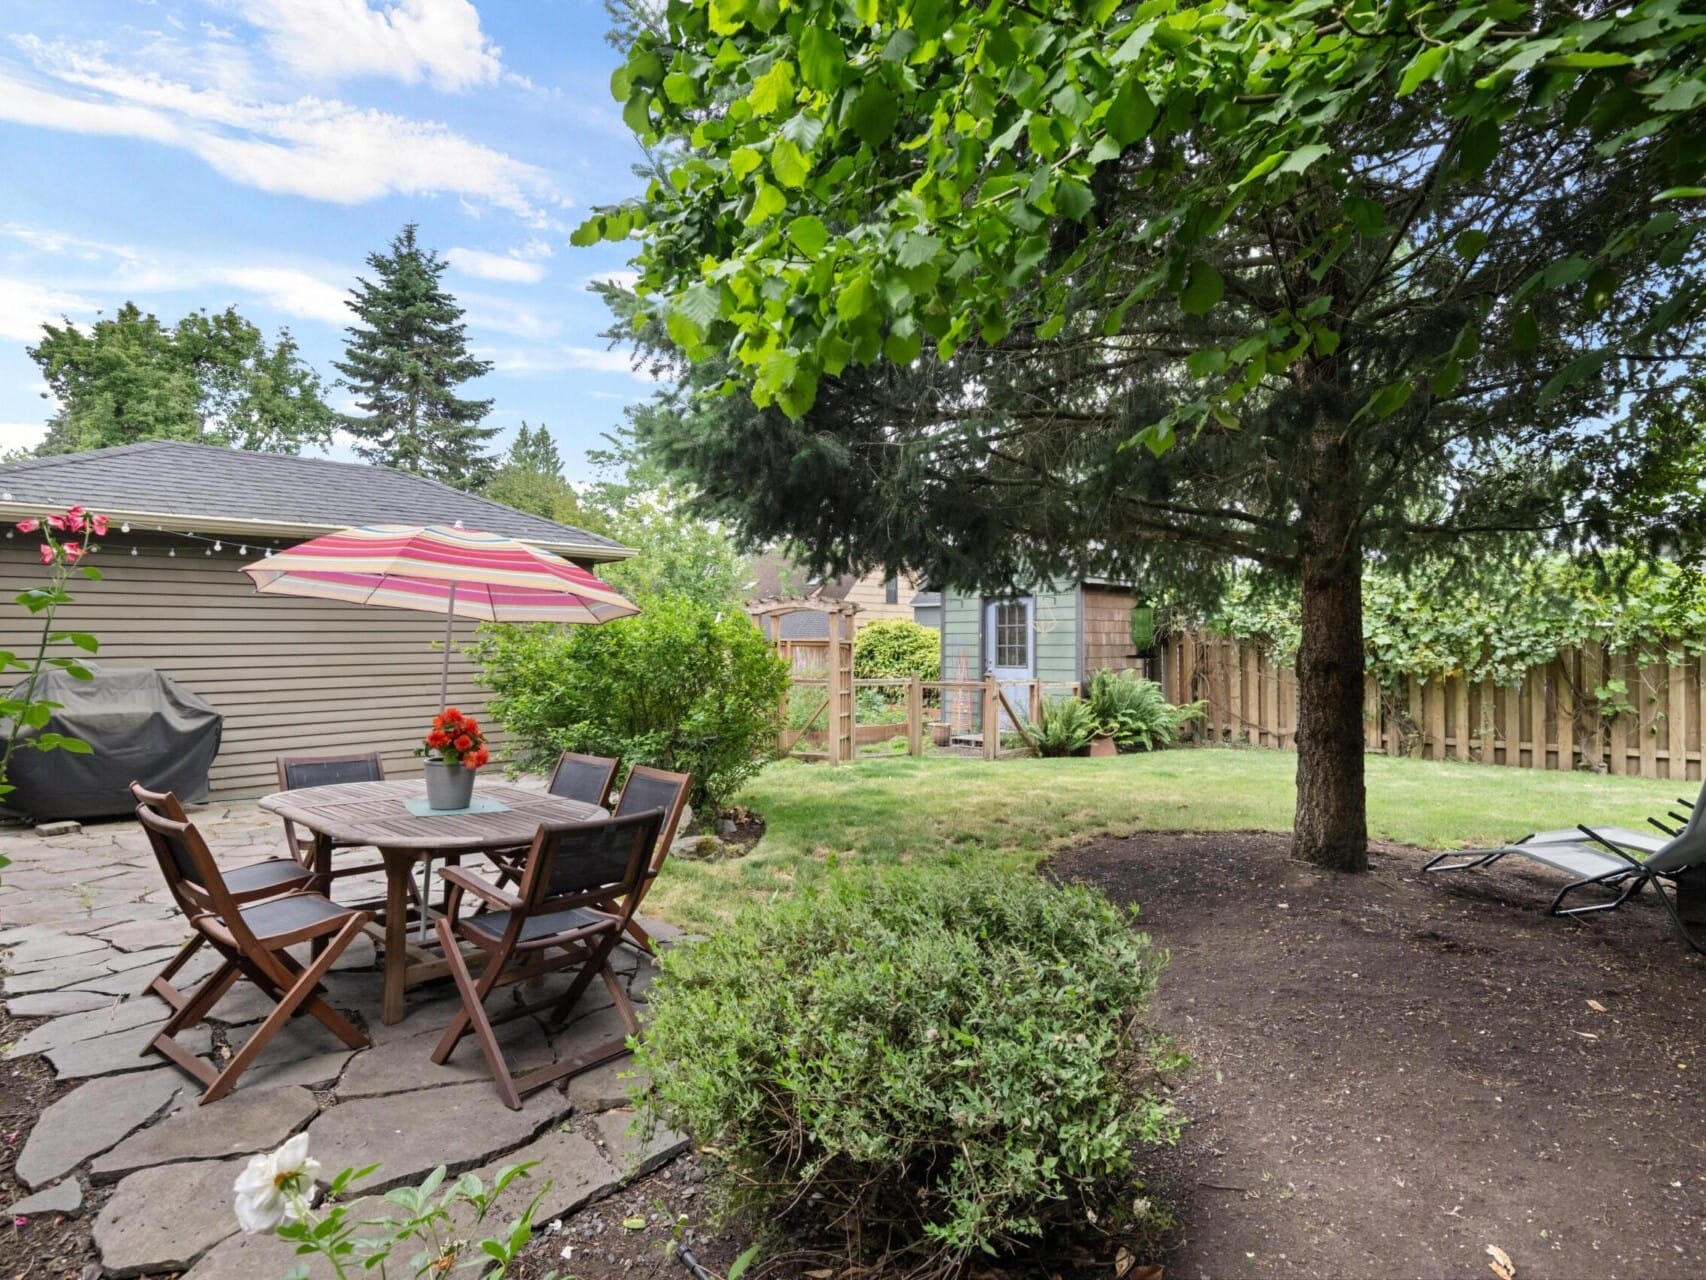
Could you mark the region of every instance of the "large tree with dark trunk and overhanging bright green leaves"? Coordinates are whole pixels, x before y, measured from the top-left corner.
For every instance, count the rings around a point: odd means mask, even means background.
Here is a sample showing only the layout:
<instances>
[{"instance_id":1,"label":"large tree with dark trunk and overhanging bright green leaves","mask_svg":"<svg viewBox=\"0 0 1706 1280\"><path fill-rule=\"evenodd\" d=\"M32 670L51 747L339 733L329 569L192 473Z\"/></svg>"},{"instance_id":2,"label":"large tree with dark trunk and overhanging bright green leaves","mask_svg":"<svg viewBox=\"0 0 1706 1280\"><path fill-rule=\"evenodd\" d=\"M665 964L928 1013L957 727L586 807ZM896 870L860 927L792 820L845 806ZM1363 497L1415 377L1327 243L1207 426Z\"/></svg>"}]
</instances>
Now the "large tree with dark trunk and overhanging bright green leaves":
<instances>
[{"instance_id":1,"label":"large tree with dark trunk and overhanging bright green leaves","mask_svg":"<svg viewBox=\"0 0 1706 1280\"><path fill-rule=\"evenodd\" d=\"M676 0L614 89L677 160L578 236L643 237L701 393L652 442L751 538L1297 582L1298 852L1356 867L1368 555L1703 527L1703 53L1677 0Z\"/></svg>"}]
</instances>

